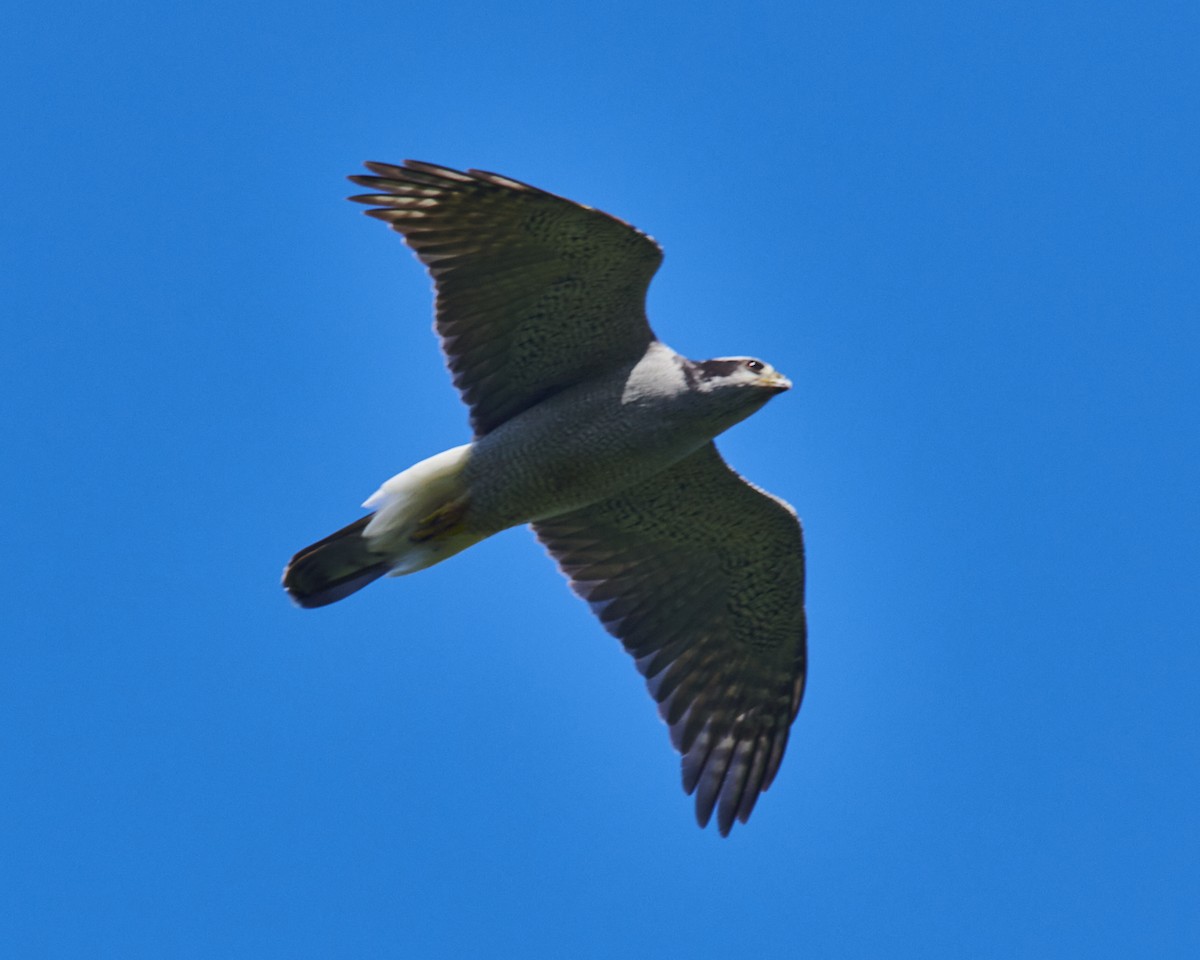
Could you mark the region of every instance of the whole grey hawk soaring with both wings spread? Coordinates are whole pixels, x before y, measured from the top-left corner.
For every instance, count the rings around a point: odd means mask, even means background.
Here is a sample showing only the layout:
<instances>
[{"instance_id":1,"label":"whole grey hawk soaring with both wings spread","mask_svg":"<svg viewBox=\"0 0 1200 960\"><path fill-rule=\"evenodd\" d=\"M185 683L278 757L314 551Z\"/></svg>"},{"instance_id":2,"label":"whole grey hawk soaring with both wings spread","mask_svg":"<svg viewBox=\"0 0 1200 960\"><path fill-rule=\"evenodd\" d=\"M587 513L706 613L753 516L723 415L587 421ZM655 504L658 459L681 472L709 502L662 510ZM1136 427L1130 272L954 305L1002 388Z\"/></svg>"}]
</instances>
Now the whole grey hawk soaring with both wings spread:
<instances>
[{"instance_id":1,"label":"whole grey hawk soaring with both wings spread","mask_svg":"<svg viewBox=\"0 0 1200 960\"><path fill-rule=\"evenodd\" d=\"M713 438L791 383L659 341L646 292L662 251L624 221L484 170L366 166L350 199L433 276L474 438L384 482L367 516L292 558L284 588L324 606L532 524L646 678L697 822L715 810L727 835L804 694L804 542Z\"/></svg>"}]
</instances>

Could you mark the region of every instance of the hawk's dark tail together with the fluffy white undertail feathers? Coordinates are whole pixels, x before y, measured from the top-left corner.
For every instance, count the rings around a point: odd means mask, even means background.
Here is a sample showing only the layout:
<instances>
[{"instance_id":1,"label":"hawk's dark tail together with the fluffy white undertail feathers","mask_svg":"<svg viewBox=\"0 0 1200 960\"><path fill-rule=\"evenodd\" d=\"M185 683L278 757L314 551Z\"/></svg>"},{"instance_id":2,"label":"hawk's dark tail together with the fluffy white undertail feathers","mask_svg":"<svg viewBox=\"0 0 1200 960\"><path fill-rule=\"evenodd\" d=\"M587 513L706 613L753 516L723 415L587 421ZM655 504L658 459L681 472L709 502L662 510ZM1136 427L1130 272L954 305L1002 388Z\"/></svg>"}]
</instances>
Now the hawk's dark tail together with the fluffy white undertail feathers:
<instances>
[{"instance_id":1,"label":"hawk's dark tail together with the fluffy white undertail feathers","mask_svg":"<svg viewBox=\"0 0 1200 960\"><path fill-rule=\"evenodd\" d=\"M323 607L382 576L413 574L478 544L466 529L463 467L470 444L422 460L364 504L376 510L305 547L283 571L283 587L302 607Z\"/></svg>"}]
</instances>

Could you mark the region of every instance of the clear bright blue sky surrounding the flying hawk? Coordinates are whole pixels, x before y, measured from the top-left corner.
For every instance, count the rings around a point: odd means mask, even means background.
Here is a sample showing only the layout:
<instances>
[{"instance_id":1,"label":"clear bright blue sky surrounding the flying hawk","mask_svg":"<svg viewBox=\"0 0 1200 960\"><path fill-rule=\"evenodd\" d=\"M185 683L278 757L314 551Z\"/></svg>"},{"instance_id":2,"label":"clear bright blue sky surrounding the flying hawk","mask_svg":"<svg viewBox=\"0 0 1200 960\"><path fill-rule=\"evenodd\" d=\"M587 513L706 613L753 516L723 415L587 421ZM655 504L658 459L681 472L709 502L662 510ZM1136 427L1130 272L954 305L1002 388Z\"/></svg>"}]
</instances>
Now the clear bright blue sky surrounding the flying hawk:
<instances>
[{"instance_id":1,"label":"clear bright blue sky surrounding the flying hawk","mask_svg":"<svg viewBox=\"0 0 1200 960\"><path fill-rule=\"evenodd\" d=\"M1194 2L23 4L0 31L0 955L1200 955ZM511 530L278 587L467 439L362 160L510 174L796 382L811 673L701 832Z\"/></svg>"}]
</instances>

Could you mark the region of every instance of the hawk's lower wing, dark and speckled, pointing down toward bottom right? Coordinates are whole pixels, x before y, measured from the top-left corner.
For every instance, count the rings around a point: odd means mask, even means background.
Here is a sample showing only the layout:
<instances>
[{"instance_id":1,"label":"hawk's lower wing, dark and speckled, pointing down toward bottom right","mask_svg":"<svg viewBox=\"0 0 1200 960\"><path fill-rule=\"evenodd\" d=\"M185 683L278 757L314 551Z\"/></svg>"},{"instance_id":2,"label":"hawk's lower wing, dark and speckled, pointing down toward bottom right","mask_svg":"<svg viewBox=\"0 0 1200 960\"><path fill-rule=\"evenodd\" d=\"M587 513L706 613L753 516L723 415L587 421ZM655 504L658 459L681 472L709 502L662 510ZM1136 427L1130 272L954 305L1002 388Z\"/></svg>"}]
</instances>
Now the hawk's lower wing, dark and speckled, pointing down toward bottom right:
<instances>
[{"instance_id":1,"label":"hawk's lower wing, dark and speckled, pointing down toward bottom right","mask_svg":"<svg viewBox=\"0 0 1200 960\"><path fill-rule=\"evenodd\" d=\"M727 834L770 786L804 694L796 512L709 443L592 506L534 524L647 679L696 818Z\"/></svg>"}]
</instances>

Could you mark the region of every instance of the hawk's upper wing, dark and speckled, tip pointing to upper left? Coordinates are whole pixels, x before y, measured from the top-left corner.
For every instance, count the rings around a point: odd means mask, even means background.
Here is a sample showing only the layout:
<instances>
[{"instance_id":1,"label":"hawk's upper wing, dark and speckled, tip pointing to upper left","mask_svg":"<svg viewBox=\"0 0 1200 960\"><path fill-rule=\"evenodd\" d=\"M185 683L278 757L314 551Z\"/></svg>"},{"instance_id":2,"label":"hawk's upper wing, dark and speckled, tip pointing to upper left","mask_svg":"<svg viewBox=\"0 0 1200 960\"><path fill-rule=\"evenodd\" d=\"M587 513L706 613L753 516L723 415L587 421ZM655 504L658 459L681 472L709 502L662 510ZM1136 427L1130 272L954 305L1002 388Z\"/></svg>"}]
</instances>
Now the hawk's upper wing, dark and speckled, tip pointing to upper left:
<instances>
[{"instance_id":1,"label":"hawk's upper wing, dark and speckled, tip pointing to upper left","mask_svg":"<svg viewBox=\"0 0 1200 960\"><path fill-rule=\"evenodd\" d=\"M476 436L654 338L649 236L590 206L484 170L367 163L352 197L433 275L437 331Z\"/></svg>"}]
</instances>

